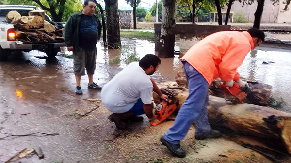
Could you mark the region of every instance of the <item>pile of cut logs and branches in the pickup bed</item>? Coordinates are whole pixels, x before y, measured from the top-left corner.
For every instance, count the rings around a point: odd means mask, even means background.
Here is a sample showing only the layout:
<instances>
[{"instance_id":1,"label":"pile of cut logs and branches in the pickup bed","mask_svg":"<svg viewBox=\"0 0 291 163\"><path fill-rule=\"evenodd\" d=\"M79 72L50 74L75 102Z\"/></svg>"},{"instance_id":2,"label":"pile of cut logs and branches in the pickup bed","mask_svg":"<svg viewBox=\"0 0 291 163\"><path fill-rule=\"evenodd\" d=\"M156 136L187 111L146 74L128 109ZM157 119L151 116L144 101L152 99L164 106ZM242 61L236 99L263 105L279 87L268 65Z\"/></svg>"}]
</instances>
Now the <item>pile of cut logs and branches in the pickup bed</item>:
<instances>
[{"instance_id":1,"label":"pile of cut logs and branches in the pickup bed","mask_svg":"<svg viewBox=\"0 0 291 163\"><path fill-rule=\"evenodd\" d=\"M64 41L63 29L45 20L43 10L32 10L29 16L10 11L6 20L14 25L16 40L24 43Z\"/></svg>"}]
</instances>

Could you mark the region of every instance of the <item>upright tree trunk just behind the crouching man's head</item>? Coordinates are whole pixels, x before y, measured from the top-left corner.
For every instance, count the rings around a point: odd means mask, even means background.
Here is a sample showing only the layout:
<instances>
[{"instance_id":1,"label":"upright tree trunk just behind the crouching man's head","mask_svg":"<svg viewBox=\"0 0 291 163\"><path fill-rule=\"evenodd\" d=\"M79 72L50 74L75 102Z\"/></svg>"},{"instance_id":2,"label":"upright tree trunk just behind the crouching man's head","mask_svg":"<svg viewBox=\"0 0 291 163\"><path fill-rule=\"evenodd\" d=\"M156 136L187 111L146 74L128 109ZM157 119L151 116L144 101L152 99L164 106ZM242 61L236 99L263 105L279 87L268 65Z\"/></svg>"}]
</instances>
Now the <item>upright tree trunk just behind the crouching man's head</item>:
<instances>
[{"instance_id":1,"label":"upright tree trunk just behind the crouching man's head","mask_svg":"<svg viewBox=\"0 0 291 163\"><path fill-rule=\"evenodd\" d=\"M159 57L174 57L175 46L175 8L177 0L163 0L162 28L159 42Z\"/></svg>"}]
</instances>

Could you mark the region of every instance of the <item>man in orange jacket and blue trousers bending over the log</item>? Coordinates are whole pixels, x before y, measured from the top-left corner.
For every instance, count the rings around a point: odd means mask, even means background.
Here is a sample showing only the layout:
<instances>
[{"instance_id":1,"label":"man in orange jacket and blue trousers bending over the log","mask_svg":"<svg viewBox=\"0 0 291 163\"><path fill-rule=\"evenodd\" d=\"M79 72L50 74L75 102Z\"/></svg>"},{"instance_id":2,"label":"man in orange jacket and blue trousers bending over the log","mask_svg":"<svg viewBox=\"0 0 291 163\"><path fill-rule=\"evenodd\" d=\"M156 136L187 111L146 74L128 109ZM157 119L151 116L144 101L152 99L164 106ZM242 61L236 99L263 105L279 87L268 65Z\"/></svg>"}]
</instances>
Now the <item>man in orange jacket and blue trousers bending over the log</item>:
<instances>
[{"instance_id":1,"label":"man in orange jacket and blue trousers bending over the log","mask_svg":"<svg viewBox=\"0 0 291 163\"><path fill-rule=\"evenodd\" d=\"M247 31L222 31L205 37L194 44L181 58L188 83L189 96L182 105L175 122L161 138L163 145L178 157L186 152L180 147L192 123L196 122L195 138L219 138L222 134L212 130L208 123L208 87L220 77L226 86L234 82L248 84L240 79L236 71L251 49L265 39L263 31L251 28Z\"/></svg>"}]
</instances>

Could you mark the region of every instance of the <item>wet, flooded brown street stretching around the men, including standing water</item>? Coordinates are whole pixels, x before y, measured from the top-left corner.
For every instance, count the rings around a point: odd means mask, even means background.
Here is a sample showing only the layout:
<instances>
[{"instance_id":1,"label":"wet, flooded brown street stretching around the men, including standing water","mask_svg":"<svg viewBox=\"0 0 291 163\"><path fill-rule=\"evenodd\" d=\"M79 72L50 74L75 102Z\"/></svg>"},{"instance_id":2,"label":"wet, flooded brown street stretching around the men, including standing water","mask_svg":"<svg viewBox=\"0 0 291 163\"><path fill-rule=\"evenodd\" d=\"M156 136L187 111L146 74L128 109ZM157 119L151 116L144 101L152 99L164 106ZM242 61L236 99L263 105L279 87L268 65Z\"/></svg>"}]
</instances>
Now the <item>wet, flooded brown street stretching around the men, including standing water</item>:
<instances>
[{"instance_id":1,"label":"wet, flooded brown street stretching around the men, including standing water","mask_svg":"<svg viewBox=\"0 0 291 163\"><path fill-rule=\"evenodd\" d=\"M154 43L147 40L122 38L122 45L120 50L107 50L101 43L97 44L94 81L100 86L104 86L127 63L155 53ZM72 54L65 53L68 56ZM7 62L0 63L0 138L6 136L4 133L42 132L59 135L0 140L0 163L24 148L38 147L42 148L45 159L39 160L33 156L21 159L21 163L154 163L152 161L157 158L171 158L160 145L159 138L172 125L172 121L153 130L146 118L143 123L130 125L125 132L116 130L115 125L107 119L110 112L99 102L86 100L100 98L99 90L87 89L87 76L81 80L83 95L75 94L73 59L58 55L56 60L49 61L40 59L43 56L45 54L39 51L18 53ZM158 82L175 80L182 67L178 55L161 60L162 64L153 78ZM262 64L264 61L270 64ZM291 52L262 49L249 53L238 71L244 78L272 85L275 98L282 97L288 104L291 101L290 65ZM96 107L99 108L89 116L75 117L76 113L84 114ZM289 104L282 110L291 113ZM141 135L146 135L146 138ZM187 136L187 141L193 142L190 137L193 132ZM148 147L144 148L143 144ZM224 144L228 146L229 142L225 140ZM188 150L192 148L186 147ZM198 153L195 150L190 152ZM186 162L187 159L190 158L186 158ZM173 158L169 162L180 161Z\"/></svg>"}]
</instances>

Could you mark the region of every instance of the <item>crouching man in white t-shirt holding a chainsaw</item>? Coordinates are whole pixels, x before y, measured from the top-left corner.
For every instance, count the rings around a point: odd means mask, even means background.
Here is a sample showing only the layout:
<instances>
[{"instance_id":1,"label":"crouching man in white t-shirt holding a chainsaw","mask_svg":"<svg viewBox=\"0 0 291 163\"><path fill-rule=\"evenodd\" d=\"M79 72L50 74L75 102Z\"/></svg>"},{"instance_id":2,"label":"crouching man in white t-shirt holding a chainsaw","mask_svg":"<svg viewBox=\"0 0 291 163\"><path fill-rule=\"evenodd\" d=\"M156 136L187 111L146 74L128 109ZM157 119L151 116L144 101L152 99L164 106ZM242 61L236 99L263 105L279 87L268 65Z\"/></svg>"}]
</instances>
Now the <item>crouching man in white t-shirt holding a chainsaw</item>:
<instances>
[{"instance_id":1,"label":"crouching man in white t-shirt holding a chainsaw","mask_svg":"<svg viewBox=\"0 0 291 163\"><path fill-rule=\"evenodd\" d=\"M145 113L150 121L157 120L157 116L153 115L152 91L162 100L168 97L148 75L154 74L160 64L159 57L147 54L140 62L130 63L103 87L102 102L113 112L108 118L117 128L125 129L125 120L142 121L143 117L138 115Z\"/></svg>"}]
</instances>

